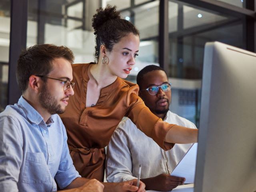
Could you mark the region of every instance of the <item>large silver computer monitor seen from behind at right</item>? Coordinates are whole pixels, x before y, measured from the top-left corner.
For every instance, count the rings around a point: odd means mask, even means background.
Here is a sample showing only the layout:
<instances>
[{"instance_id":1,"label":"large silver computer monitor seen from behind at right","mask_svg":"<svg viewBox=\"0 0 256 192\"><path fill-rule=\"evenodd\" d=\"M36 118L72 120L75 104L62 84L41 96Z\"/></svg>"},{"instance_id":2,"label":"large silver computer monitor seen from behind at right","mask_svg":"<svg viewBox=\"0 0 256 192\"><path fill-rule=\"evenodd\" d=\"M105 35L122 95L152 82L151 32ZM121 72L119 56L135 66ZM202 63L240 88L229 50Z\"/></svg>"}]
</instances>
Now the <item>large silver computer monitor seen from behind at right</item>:
<instances>
[{"instance_id":1,"label":"large silver computer monitor seen from behind at right","mask_svg":"<svg viewBox=\"0 0 256 192\"><path fill-rule=\"evenodd\" d=\"M256 54L206 43L194 192L256 191Z\"/></svg>"}]
</instances>

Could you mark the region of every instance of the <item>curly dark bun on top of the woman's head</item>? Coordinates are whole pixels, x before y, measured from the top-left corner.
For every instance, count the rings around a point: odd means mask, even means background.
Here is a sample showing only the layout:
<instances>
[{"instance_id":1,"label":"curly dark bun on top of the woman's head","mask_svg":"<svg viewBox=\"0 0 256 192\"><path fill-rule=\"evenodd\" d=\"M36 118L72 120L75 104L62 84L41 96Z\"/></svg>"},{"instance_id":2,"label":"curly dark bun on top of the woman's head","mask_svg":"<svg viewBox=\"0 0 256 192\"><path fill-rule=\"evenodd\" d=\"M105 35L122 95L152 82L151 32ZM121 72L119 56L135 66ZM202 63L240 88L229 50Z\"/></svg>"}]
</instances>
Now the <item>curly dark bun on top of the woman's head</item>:
<instances>
[{"instance_id":1,"label":"curly dark bun on top of the woman's head","mask_svg":"<svg viewBox=\"0 0 256 192\"><path fill-rule=\"evenodd\" d=\"M96 10L97 13L94 14L92 18L92 27L94 28L94 34L97 34L98 29L111 19L120 19L120 12L116 11L116 6L107 5L105 9L100 7Z\"/></svg>"}]
</instances>

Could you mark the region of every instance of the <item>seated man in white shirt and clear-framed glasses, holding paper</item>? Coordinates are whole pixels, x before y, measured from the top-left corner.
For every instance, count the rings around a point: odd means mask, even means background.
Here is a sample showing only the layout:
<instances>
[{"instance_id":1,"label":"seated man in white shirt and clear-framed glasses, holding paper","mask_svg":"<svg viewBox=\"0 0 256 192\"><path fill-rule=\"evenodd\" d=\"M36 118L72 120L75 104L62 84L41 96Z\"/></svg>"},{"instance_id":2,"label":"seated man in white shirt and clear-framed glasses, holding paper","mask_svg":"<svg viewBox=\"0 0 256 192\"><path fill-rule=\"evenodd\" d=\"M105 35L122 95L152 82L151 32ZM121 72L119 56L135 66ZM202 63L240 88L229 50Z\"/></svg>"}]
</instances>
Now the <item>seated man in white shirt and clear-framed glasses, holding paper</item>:
<instances>
[{"instance_id":1,"label":"seated man in white shirt and clear-framed glasses, holding paper","mask_svg":"<svg viewBox=\"0 0 256 192\"><path fill-rule=\"evenodd\" d=\"M138 73L137 83L140 97L156 116L169 123L196 128L192 122L170 112L171 83L162 68L146 66ZM125 117L108 145L106 179L121 182L137 178L141 164L141 181L146 184L146 190L170 191L184 183L185 178L170 176L170 173L191 145L175 144L166 152Z\"/></svg>"}]
</instances>

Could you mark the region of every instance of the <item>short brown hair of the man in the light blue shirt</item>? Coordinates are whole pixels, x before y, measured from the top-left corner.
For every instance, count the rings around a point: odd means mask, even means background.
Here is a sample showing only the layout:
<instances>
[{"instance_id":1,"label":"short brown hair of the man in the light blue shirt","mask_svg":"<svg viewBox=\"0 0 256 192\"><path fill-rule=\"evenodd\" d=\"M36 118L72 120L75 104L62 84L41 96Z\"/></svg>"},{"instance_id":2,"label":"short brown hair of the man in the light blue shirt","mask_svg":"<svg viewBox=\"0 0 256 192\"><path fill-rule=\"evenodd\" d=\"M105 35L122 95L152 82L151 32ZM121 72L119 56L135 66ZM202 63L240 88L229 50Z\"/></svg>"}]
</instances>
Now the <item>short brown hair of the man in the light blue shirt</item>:
<instances>
[{"instance_id":1,"label":"short brown hair of the man in the light blue shirt","mask_svg":"<svg viewBox=\"0 0 256 192\"><path fill-rule=\"evenodd\" d=\"M52 61L64 58L71 64L74 62L73 52L65 46L53 44L34 45L20 54L16 68L16 79L22 93L28 88L31 75L47 76L52 70ZM43 81L44 78L42 78Z\"/></svg>"}]
</instances>

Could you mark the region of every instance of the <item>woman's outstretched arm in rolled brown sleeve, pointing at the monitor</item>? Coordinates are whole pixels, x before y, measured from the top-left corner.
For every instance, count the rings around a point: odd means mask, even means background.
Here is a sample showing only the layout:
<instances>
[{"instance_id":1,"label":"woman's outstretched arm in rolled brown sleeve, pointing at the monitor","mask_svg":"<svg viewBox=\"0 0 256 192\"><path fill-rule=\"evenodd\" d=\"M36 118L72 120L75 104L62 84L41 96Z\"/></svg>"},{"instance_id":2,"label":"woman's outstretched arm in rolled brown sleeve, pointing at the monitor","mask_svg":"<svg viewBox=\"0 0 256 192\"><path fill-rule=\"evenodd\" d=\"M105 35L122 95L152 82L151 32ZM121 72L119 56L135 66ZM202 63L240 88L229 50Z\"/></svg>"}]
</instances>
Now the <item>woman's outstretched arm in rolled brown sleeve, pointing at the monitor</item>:
<instances>
[{"instance_id":1,"label":"woman's outstretched arm in rolled brown sleeve, pointing at the monitor","mask_svg":"<svg viewBox=\"0 0 256 192\"><path fill-rule=\"evenodd\" d=\"M198 130L163 122L145 106L142 99L131 90L127 96L127 116L144 134L152 138L164 150L170 150L175 143L197 142Z\"/></svg>"}]
</instances>

